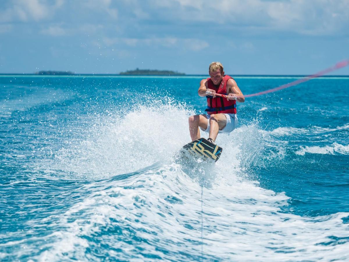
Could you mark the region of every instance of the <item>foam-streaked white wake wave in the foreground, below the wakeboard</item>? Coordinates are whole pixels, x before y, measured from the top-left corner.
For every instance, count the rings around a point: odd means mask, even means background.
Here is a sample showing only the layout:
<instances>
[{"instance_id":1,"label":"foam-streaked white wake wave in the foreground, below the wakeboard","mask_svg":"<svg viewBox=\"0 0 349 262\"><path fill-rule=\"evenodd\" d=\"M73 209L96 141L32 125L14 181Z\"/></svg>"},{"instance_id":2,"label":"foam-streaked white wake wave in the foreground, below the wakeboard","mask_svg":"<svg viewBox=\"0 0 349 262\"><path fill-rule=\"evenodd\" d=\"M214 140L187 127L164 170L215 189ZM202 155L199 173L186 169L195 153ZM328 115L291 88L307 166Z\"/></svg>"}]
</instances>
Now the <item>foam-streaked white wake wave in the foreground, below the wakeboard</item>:
<instances>
[{"instance_id":1,"label":"foam-streaked white wake wave in the foreground, below the wakeboard","mask_svg":"<svg viewBox=\"0 0 349 262\"><path fill-rule=\"evenodd\" d=\"M88 250L146 261L349 259L343 253L348 242L334 245L347 237L342 218L348 213L309 218L281 212L289 198L253 181L215 180L212 187L201 187L172 163L123 180L116 176L90 183L79 191L91 193L65 213L41 221L56 221L58 229L37 239L45 251L36 259L93 260L96 254Z\"/></svg>"}]
</instances>

